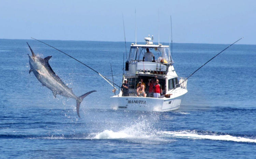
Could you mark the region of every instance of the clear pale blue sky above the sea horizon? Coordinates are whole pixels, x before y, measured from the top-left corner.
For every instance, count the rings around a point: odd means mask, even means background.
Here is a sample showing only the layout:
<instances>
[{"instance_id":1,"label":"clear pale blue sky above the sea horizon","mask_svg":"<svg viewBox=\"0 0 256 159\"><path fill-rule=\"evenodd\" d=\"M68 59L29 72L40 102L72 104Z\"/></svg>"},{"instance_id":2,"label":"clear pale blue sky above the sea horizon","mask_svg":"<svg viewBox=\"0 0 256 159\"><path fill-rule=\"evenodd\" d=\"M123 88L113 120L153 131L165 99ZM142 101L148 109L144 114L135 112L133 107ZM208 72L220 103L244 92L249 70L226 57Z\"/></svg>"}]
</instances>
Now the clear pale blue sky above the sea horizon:
<instances>
[{"instance_id":1,"label":"clear pale blue sky above the sea horizon","mask_svg":"<svg viewBox=\"0 0 256 159\"><path fill-rule=\"evenodd\" d=\"M244 37L238 44L256 45L256 0L0 0L0 24L0 39L142 42L150 34L163 43L172 30L175 43Z\"/></svg>"}]
</instances>

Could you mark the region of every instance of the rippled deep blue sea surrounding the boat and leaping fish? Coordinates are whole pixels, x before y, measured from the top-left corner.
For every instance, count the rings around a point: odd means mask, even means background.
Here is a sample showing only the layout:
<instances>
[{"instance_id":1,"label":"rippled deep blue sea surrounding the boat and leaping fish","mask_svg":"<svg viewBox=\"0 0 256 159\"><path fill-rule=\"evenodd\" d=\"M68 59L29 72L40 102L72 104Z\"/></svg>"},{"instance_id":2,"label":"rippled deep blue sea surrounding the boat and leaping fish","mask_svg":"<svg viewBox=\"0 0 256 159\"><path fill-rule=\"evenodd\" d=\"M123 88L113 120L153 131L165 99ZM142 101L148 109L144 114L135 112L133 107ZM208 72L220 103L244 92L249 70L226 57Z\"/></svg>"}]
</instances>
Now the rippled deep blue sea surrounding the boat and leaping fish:
<instances>
[{"instance_id":1,"label":"rippled deep blue sea surrounding the boat and leaping fish","mask_svg":"<svg viewBox=\"0 0 256 159\"><path fill-rule=\"evenodd\" d=\"M124 42L42 40L121 84ZM230 43L236 41L231 39ZM29 74L28 42L73 92L76 103ZM130 42L127 42L129 48ZM173 43L187 77L229 44ZM127 50L127 54L129 49ZM112 86L36 40L0 39L0 158L255 158L256 45L235 44L188 79L179 110L112 110Z\"/></svg>"}]
</instances>

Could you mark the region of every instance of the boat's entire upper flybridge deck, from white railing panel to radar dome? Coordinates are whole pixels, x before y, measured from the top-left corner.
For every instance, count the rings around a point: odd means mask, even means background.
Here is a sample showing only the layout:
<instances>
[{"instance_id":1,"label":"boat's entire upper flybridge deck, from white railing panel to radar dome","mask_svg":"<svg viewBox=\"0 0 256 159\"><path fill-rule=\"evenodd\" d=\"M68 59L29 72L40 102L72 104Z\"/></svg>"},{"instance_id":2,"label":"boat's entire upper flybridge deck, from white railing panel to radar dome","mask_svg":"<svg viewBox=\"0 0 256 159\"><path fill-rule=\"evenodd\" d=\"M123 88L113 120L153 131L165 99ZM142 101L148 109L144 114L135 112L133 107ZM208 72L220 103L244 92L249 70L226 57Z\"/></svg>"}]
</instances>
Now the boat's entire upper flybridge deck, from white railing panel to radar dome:
<instances>
[{"instance_id":1,"label":"boat's entire upper flybridge deck, from white railing panel to radar dome","mask_svg":"<svg viewBox=\"0 0 256 159\"><path fill-rule=\"evenodd\" d=\"M167 74L169 72L169 67L173 63L169 46L153 45L152 39L153 36L151 38L148 35L148 37L144 38L145 45L131 44L130 53L126 61L125 70L127 74L137 74L139 72ZM145 58L146 54L150 54L150 59Z\"/></svg>"}]
</instances>

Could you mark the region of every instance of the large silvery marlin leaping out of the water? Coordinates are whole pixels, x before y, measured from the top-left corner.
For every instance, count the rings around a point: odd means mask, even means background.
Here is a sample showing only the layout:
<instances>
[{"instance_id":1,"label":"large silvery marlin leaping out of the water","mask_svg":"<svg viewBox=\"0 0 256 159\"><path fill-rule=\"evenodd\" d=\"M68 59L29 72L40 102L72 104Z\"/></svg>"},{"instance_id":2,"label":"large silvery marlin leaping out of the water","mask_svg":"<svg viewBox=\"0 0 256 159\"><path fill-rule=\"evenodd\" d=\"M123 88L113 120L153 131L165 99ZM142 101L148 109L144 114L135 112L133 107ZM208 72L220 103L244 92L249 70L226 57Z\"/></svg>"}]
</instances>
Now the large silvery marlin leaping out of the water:
<instances>
[{"instance_id":1,"label":"large silvery marlin leaping out of the water","mask_svg":"<svg viewBox=\"0 0 256 159\"><path fill-rule=\"evenodd\" d=\"M55 72L49 65L48 60L52 56L47 56L45 58L41 58L34 54L33 50L30 48L29 45L28 45L28 47L32 53L32 57L29 56L29 54L28 54L29 65L30 65L29 73L32 71L34 73L35 77L37 77L38 81L41 82L43 86L46 86L47 88L52 90L55 98L56 98L56 94L59 94L59 95L65 96L67 98L75 99L76 100L76 112L77 112L77 115L80 117L80 115L79 115L80 103L83 101L83 99L87 95L89 95L92 92L95 92L95 90L87 92L87 93L77 97L73 93L72 89L69 88L68 86L66 86L61 81L60 77L55 74Z\"/></svg>"}]
</instances>

